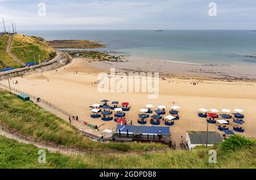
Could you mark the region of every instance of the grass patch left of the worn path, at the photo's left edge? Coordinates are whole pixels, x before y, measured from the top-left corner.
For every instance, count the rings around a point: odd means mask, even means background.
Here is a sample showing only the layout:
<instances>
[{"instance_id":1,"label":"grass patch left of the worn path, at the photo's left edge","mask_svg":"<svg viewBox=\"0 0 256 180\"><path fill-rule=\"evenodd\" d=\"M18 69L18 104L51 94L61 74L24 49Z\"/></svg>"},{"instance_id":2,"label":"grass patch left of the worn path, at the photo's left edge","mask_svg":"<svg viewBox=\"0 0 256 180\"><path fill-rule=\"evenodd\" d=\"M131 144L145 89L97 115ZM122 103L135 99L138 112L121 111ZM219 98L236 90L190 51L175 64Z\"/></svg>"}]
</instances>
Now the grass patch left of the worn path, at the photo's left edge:
<instances>
[{"instance_id":1,"label":"grass patch left of the worn path, at the photo's left edge","mask_svg":"<svg viewBox=\"0 0 256 180\"><path fill-rule=\"evenodd\" d=\"M5 52L8 40L9 35L0 36L0 70L7 67L20 67L20 64Z\"/></svg>"}]
</instances>

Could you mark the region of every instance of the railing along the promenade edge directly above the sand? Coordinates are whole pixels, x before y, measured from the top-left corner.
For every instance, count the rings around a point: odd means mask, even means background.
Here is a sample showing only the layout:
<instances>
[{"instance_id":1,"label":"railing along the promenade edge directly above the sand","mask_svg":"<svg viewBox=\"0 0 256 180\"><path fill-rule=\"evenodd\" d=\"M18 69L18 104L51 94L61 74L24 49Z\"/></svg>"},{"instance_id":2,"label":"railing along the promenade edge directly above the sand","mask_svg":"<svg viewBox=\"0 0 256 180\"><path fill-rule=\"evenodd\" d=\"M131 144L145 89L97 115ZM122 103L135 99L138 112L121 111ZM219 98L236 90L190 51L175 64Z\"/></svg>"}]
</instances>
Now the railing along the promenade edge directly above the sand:
<instances>
[{"instance_id":1,"label":"railing along the promenade edge directly above the sand","mask_svg":"<svg viewBox=\"0 0 256 180\"><path fill-rule=\"evenodd\" d=\"M0 83L0 86L2 86L2 87L4 87L4 88L10 90L9 85ZM34 95L30 95L29 93L26 93L26 92L23 92L23 91L19 91L19 89L15 89L15 88L12 88L12 87L11 87L11 91L14 91L14 92L19 93L19 94L27 95L27 96L29 96L30 98L33 98L33 99L35 99L35 100L37 100L37 99L39 98L39 97L36 97L36 96L34 96ZM53 105L51 102L48 102L48 101L46 101L46 100L44 100L44 99L42 99L42 98L40 98L40 100L41 100L41 102L43 102L44 104L46 104L46 105L50 106L51 108L57 110L58 112L60 112L60 113L62 113L62 114L65 114L65 115L67 115L68 117L73 117L72 114L70 114L70 113L66 112L65 110L63 110L63 109L61 109L61 108L59 108L59 107ZM84 123L84 121L83 121L82 119L80 119L80 118L78 119L78 121L81 122L81 123ZM90 123L86 123L86 126L91 127L91 128L95 128L95 125L92 125L92 124L90 124Z\"/></svg>"}]
</instances>

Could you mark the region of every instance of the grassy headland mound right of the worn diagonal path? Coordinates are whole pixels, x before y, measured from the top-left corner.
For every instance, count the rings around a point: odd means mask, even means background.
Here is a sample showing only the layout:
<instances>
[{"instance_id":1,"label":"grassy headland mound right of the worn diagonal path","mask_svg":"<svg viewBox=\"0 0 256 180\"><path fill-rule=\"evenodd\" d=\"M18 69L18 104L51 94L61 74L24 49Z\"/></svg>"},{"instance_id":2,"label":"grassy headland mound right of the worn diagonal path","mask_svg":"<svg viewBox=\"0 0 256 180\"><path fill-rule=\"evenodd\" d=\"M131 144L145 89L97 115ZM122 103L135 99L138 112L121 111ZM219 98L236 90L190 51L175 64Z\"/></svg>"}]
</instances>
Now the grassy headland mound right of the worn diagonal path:
<instances>
[{"instance_id":1,"label":"grassy headland mound right of the worn diagonal path","mask_svg":"<svg viewBox=\"0 0 256 180\"><path fill-rule=\"evenodd\" d=\"M14 36L11 53L24 62L34 62L35 54L37 63L39 59L38 55L40 55L41 61L44 62L46 59L52 59L56 54L53 48L44 44L39 38L20 34Z\"/></svg>"}]
</instances>

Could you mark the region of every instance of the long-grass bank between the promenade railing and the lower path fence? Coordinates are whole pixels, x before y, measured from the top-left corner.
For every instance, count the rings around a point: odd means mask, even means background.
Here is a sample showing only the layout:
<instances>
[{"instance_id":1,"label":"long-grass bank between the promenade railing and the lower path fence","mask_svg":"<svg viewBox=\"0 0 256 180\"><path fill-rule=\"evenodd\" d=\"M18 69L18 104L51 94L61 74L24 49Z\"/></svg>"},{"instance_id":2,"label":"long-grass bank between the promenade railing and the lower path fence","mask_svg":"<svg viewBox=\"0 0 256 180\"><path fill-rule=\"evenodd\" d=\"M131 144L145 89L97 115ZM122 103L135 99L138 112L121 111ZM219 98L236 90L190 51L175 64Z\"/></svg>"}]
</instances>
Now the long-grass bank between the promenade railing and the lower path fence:
<instances>
[{"instance_id":1,"label":"long-grass bank between the promenade railing and the lower path fence","mask_svg":"<svg viewBox=\"0 0 256 180\"><path fill-rule=\"evenodd\" d=\"M0 91L0 122L24 135L85 149L143 149L166 147L160 144L99 143L80 135L79 131L56 115L16 95Z\"/></svg>"}]
</instances>

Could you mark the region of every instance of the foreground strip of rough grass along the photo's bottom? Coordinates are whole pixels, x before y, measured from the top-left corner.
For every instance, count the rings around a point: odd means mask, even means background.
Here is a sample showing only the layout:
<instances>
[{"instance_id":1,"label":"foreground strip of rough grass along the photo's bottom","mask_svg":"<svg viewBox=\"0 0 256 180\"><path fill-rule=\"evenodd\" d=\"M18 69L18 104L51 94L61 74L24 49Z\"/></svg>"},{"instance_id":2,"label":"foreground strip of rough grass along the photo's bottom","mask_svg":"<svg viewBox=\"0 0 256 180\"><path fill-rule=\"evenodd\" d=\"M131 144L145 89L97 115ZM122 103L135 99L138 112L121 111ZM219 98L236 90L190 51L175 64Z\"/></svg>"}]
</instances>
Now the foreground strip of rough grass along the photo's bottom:
<instances>
[{"instance_id":1,"label":"foreground strip of rough grass along the photo's bottom","mask_svg":"<svg viewBox=\"0 0 256 180\"><path fill-rule=\"evenodd\" d=\"M210 148L149 155L77 155L46 151L46 164L38 163L39 148L0 136L0 168L256 168L256 147L222 152L217 163L208 162Z\"/></svg>"}]
</instances>

